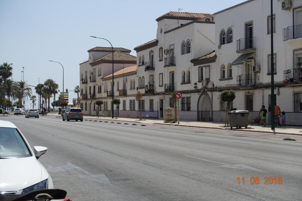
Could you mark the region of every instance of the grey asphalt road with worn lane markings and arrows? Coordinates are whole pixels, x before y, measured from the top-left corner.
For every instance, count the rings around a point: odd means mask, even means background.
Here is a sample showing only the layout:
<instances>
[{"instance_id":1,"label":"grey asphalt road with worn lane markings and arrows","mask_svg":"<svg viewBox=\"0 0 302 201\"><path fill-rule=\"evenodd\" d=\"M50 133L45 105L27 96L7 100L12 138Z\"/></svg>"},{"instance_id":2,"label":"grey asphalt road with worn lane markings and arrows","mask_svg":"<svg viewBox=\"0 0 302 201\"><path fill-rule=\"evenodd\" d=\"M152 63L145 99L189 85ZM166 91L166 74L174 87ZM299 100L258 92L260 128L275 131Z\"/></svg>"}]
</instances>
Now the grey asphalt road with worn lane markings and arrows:
<instances>
[{"instance_id":1,"label":"grey asphalt road with worn lane markings and arrows","mask_svg":"<svg viewBox=\"0 0 302 201\"><path fill-rule=\"evenodd\" d=\"M302 200L302 143L281 140L286 135L50 116L0 119L16 124L31 146L48 147L39 161L74 201Z\"/></svg>"}]
</instances>

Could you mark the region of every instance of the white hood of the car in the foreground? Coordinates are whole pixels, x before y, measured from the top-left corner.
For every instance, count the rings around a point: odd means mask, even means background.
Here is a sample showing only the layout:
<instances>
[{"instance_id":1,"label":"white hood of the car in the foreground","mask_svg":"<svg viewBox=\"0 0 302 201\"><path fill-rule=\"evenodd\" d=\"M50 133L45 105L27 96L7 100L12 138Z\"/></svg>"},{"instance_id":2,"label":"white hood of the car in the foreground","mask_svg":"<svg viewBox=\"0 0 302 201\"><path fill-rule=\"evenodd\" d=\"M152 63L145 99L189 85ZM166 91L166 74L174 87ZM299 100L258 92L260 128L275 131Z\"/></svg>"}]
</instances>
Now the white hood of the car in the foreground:
<instances>
[{"instance_id":1,"label":"white hood of the car in the foreground","mask_svg":"<svg viewBox=\"0 0 302 201\"><path fill-rule=\"evenodd\" d=\"M35 156L0 159L0 192L19 191L37 184L47 179L48 173L45 171Z\"/></svg>"}]
</instances>

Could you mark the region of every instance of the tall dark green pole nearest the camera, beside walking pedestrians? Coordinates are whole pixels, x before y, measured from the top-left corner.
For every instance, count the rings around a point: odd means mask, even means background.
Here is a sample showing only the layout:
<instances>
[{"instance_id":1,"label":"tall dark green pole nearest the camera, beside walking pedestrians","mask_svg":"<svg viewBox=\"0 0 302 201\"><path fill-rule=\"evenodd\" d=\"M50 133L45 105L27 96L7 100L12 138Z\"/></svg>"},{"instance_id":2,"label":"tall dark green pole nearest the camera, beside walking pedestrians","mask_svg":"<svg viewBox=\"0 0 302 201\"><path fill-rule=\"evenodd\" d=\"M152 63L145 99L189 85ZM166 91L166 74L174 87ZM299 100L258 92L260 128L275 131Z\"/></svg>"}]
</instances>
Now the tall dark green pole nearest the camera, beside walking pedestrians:
<instances>
[{"instance_id":1,"label":"tall dark green pole nearest the camera, beside walking pedestrians","mask_svg":"<svg viewBox=\"0 0 302 201\"><path fill-rule=\"evenodd\" d=\"M275 130L273 0L271 0L271 130Z\"/></svg>"}]
</instances>

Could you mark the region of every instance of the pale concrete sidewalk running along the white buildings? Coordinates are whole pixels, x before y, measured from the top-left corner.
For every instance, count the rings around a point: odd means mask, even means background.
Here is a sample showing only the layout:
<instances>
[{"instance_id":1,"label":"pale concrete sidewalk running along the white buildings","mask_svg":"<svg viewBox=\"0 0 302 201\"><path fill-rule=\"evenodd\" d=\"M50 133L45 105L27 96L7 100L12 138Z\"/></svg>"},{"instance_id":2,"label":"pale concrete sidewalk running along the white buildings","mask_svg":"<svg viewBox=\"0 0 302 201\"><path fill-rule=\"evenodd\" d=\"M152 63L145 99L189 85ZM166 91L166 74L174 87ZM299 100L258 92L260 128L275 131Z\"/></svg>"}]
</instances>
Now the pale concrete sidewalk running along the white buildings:
<instances>
[{"instance_id":1,"label":"pale concrete sidewalk running along the white buildings","mask_svg":"<svg viewBox=\"0 0 302 201\"><path fill-rule=\"evenodd\" d=\"M48 115L61 117L58 114L48 113ZM103 117L97 118L96 116L84 116L84 119L94 119L101 121L128 121L128 122L136 122L136 123L145 123L145 124L163 124L163 125L173 125L173 126L186 126L186 127L200 127L200 128L213 128L213 129L228 129L230 127L224 127L223 122L207 122L207 121L180 121L179 124L170 124L163 123L163 119L143 119L140 121L138 118L124 118L118 117L117 119L112 119L111 117ZM302 127L301 126L285 126L285 127L275 127L275 131L271 130L270 125L266 127L261 127L261 125L249 125L248 129L237 129L240 131L249 131L249 132L261 132L261 133L276 133L276 134L291 134L291 135L302 135Z\"/></svg>"}]
</instances>

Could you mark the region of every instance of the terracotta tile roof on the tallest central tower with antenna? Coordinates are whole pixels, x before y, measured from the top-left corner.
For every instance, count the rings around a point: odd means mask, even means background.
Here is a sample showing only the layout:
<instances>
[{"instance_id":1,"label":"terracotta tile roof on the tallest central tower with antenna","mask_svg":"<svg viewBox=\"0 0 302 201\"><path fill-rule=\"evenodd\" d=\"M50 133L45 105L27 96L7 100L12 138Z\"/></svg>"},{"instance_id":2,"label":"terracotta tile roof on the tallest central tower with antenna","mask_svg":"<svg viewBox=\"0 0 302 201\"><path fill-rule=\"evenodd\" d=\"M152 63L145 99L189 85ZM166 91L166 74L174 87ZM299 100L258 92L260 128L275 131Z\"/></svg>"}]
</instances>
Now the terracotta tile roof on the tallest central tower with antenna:
<instances>
[{"instance_id":1,"label":"terracotta tile roof on the tallest central tower with antenna","mask_svg":"<svg viewBox=\"0 0 302 201\"><path fill-rule=\"evenodd\" d=\"M186 20L197 20L199 18L206 17L210 14L208 13L188 13L188 12L175 12L169 11L168 13L158 17L156 21L160 21L165 18L173 18L173 19L186 19Z\"/></svg>"}]
</instances>

